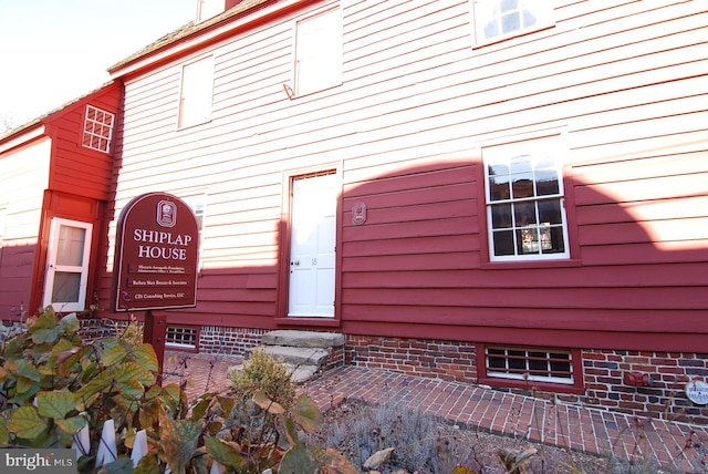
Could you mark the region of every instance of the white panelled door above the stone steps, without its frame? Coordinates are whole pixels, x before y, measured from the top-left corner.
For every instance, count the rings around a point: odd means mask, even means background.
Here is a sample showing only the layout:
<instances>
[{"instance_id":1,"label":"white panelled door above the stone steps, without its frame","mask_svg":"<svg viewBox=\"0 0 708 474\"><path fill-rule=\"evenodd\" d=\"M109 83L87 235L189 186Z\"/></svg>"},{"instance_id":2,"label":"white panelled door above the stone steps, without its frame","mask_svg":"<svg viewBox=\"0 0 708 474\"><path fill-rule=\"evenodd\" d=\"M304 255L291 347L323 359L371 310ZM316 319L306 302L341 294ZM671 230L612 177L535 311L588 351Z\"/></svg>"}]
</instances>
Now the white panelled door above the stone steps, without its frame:
<instances>
[{"instance_id":1,"label":"white panelled door above the stone steps, without its frame","mask_svg":"<svg viewBox=\"0 0 708 474\"><path fill-rule=\"evenodd\" d=\"M334 317L337 176L293 181L289 317Z\"/></svg>"}]
</instances>

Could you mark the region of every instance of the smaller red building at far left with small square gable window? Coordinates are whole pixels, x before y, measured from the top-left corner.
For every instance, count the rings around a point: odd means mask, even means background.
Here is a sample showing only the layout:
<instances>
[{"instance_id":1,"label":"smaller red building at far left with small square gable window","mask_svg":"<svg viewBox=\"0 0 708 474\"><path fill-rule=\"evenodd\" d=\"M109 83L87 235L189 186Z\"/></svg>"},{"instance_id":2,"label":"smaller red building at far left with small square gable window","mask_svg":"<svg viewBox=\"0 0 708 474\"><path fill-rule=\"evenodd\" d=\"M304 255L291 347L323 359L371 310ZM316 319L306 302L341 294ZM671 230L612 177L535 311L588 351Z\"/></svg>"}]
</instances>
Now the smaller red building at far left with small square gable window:
<instances>
[{"instance_id":1,"label":"smaller red building at far left with small square gable window","mask_svg":"<svg viewBox=\"0 0 708 474\"><path fill-rule=\"evenodd\" d=\"M112 82L0 137L3 321L97 303L121 100Z\"/></svg>"}]
</instances>

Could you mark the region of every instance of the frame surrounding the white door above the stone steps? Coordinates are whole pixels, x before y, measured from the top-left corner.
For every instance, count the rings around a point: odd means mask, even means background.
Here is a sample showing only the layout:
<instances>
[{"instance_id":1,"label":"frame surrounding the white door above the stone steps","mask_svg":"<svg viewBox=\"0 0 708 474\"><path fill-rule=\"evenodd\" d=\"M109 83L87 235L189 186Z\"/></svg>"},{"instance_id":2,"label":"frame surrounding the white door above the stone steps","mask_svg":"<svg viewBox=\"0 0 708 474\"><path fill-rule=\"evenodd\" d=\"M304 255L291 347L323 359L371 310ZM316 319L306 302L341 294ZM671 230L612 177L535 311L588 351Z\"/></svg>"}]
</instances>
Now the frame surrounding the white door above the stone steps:
<instances>
[{"instance_id":1,"label":"frame surrounding the white door above the stone steps","mask_svg":"<svg viewBox=\"0 0 708 474\"><path fill-rule=\"evenodd\" d=\"M293 182L298 178L319 174L334 174L340 185L336 196L335 212L335 243L336 254L334 257L334 317L288 317L289 288L290 288L290 243L292 237L292 195ZM331 162L317 166L310 166L295 169L283 171L282 174L282 205L279 226L279 251L278 251L278 302L275 309L275 323L288 326L312 326L312 327L339 327L341 324L342 309L342 163Z\"/></svg>"}]
</instances>

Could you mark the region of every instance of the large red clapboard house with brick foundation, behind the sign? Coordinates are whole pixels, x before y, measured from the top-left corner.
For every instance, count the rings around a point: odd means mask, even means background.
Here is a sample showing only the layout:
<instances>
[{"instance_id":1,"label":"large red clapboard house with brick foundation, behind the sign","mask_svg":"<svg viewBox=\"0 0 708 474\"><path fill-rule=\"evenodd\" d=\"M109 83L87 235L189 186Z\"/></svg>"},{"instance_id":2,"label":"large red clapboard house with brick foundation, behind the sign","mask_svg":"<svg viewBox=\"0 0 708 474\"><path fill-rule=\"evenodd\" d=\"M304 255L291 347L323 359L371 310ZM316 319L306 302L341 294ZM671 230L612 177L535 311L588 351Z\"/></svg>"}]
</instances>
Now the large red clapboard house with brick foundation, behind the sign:
<instances>
[{"instance_id":1,"label":"large red clapboard house with brick foundation, behind the sign","mask_svg":"<svg viewBox=\"0 0 708 474\"><path fill-rule=\"evenodd\" d=\"M110 69L100 316L126 317L121 212L169 193L201 227L168 341L336 331L360 367L706 423L707 24L681 0L202 1Z\"/></svg>"}]
</instances>

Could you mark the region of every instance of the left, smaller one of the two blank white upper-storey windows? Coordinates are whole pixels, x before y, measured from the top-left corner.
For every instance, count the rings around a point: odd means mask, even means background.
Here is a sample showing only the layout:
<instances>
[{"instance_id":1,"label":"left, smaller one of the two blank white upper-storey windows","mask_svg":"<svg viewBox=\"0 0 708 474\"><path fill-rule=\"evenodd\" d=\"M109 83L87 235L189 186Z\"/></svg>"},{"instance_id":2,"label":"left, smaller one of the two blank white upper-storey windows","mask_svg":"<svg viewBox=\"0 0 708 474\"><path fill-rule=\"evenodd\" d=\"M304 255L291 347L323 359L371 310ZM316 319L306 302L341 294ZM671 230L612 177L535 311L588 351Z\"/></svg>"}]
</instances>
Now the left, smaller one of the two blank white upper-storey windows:
<instances>
[{"instance_id":1,"label":"left, smaller one of the two blank white upper-storey windows","mask_svg":"<svg viewBox=\"0 0 708 474\"><path fill-rule=\"evenodd\" d=\"M180 128L211 120L214 102L214 56L185 64L179 96Z\"/></svg>"}]
</instances>

